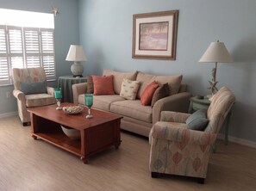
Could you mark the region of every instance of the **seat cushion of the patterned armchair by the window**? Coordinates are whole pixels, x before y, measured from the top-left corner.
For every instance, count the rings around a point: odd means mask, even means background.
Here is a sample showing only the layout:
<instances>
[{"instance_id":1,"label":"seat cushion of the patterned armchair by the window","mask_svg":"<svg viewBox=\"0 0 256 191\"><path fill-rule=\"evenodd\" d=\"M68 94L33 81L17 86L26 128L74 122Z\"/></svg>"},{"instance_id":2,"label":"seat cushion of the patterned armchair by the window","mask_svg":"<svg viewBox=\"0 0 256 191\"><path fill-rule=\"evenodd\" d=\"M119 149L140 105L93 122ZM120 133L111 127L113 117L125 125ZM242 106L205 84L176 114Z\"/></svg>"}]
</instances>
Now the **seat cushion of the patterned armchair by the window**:
<instances>
[{"instance_id":1,"label":"seat cushion of the patterned armchair by the window","mask_svg":"<svg viewBox=\"0 0 256 191\"><path fill-rule=\"evenodd\" d=\"M30 94L25 95L27 107L38 107L55 104L56 100L53 95L48 94Z\"/></svg>"}]
</instances>

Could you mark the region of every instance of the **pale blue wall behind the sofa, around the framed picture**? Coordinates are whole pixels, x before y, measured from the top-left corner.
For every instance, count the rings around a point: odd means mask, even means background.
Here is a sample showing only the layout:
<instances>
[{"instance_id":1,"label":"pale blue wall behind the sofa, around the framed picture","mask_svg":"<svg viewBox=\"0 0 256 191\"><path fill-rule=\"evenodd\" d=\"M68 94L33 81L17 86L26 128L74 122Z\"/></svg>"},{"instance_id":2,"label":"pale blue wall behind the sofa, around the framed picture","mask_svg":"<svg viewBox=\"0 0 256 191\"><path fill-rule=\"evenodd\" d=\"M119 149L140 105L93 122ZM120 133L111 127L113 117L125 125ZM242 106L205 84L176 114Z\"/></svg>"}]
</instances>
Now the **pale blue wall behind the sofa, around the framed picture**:
<instances>
[{"instance_id":1,"label":"pale blue wall behind the sofa, around the framed picture","mask_svg":"<svg viewBox=\"0 0 256 191\"><path fill-rule=\"evenodd\" d=\"M253 0L78 0L85 74L145 71L184 75L193 94L206 89L214 64L198 63L212 41L225 43L234 63L219 64L217 87L228 86L237 101L229 134L256 142L256 1ZM177 59L132 59L134 14L178 9Z\"/></svg>"}]
</instances>

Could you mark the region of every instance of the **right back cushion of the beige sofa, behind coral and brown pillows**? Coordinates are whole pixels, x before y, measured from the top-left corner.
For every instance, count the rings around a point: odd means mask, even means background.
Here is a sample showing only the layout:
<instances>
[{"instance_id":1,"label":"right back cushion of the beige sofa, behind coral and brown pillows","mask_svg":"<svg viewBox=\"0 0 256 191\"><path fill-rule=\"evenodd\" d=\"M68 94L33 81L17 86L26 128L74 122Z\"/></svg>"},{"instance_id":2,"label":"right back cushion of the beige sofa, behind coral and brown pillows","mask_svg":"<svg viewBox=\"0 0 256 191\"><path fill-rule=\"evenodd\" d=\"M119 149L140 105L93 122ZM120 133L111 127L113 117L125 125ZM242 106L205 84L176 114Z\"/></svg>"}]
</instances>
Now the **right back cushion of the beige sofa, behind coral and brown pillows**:
<instances>
[{"instance_id":1,"label":"right back cushion of the beige sofa, behind coral and brown pillows","mask_svg":"<svg viewBox=\"0 0 256 191\"><path fill-rule=\"evenodd\" d=\"M169 95L174 95L178 93L180 83L182 80L182 75L175 76L154 76L151 74L146 74L141 71L138 72L136 81L140 82L140 89L138 91L137 97L140 99L144 89L146 89L149 83L156 81L159 85L168 83Z\"/></svg>"}]
</instances>

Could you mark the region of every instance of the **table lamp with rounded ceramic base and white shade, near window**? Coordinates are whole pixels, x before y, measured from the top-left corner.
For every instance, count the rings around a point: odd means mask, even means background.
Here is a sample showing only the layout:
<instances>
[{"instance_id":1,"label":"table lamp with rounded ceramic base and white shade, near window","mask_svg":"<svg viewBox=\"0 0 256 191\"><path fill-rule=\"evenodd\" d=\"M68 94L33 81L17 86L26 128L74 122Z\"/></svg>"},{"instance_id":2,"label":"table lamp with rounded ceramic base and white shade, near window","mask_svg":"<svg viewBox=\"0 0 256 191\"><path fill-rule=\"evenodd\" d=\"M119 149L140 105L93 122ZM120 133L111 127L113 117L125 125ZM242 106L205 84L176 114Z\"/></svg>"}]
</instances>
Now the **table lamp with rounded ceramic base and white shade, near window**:
<instances>
[{"instance_id":1,"label":"table lamp with rounded ceramic base and white shade, near window","mask_svg":"<svg viewBox=\"0 0 256 191\"><path fill-rule=\"evenodd\" d=\"M66 56L66 61L73 61L71 71L73 77L83 77L84 66L80 62L86 61L83 46L71 45Z\"/></svg>"}]
</instances>

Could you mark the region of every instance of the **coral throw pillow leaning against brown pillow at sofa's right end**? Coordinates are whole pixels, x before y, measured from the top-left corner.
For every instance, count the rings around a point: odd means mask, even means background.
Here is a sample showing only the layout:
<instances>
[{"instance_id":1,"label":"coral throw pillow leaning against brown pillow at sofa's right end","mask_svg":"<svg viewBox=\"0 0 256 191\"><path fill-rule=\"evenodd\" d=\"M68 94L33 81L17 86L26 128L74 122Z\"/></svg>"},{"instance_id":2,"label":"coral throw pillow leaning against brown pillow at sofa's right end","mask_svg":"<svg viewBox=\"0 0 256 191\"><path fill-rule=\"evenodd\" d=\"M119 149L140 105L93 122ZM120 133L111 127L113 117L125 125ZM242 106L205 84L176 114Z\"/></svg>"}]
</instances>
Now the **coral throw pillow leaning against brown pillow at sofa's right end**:
<instances>
[{"instance_id":1,"label":"coral throw pillow leaning against brown pillow at sofa's right end","mask_svg":"<svg viewBox=\"0 0 256 191\"><path fill-rule=\"evenodd\" d=\"M153 81L153 83L149 83L144 89L142 95L140 96L140 102L143 106L150 105L153 97L153 93L159 87L159 83Z\"/></svg>"}]
</instances>

